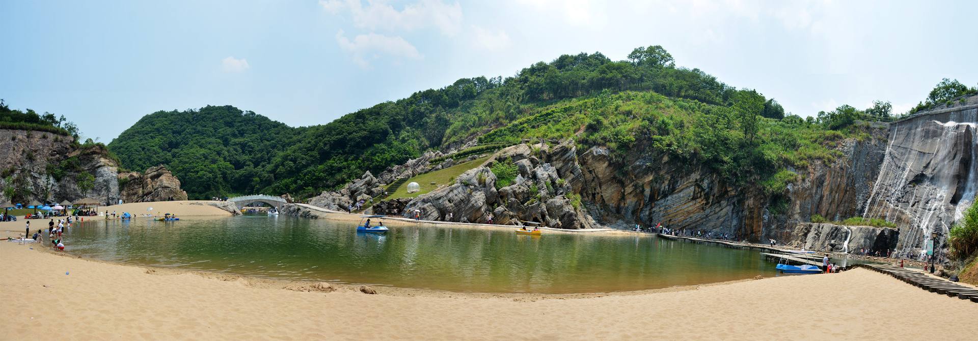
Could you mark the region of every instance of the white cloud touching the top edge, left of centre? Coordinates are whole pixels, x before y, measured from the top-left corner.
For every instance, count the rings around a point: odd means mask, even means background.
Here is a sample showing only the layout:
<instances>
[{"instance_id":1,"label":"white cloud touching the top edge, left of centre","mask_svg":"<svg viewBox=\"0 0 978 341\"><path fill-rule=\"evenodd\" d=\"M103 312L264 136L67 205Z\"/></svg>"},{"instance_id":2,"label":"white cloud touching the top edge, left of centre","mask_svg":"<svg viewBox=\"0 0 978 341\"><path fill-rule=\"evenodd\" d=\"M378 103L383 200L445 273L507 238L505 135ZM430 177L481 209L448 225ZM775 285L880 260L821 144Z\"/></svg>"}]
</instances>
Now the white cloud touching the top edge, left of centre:
<instances>
[{"instance_id":1,"label":"white cloud touching the top edge, left of centre","mask_svg":"<svg viewBox=\"0 0 978 341\"><path fill-rule=\"evenodd\" d=\"M421 0L396 10L384 1L320 0L320 6L332 14L349 11L353 23L368 30L401 31L433 26L447 36L462 30L462 5L441 0Z\"/></svg>"}]
</instances>

